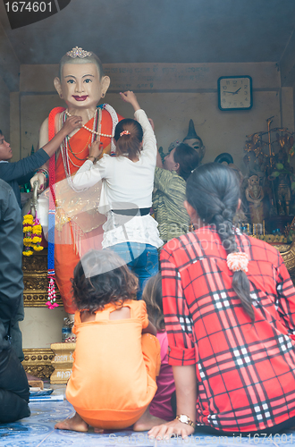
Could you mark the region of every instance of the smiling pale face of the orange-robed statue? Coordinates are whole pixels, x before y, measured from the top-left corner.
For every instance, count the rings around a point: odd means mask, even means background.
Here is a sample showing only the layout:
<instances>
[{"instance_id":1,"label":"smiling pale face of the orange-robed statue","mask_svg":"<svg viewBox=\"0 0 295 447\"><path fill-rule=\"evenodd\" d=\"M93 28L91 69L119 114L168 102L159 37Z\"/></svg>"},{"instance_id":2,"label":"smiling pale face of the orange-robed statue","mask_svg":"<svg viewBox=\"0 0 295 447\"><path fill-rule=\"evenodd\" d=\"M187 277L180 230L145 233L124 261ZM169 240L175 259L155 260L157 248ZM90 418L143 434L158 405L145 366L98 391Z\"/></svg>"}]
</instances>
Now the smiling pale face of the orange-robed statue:
<instances>
[{"instance_id":1,"label":"smiling pale face of the orange-robed statue","mask_svg":"<svg viewBox=\"0 0 295 447\"><path fill-rule=\"evenodd\" d=\"M96 107L102 97L102 81L95 63L65 63L61 86L69 109Z\"/></svg>"}]
</instances>

